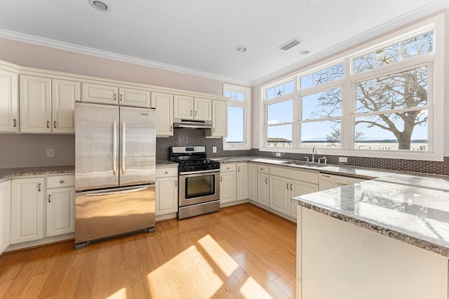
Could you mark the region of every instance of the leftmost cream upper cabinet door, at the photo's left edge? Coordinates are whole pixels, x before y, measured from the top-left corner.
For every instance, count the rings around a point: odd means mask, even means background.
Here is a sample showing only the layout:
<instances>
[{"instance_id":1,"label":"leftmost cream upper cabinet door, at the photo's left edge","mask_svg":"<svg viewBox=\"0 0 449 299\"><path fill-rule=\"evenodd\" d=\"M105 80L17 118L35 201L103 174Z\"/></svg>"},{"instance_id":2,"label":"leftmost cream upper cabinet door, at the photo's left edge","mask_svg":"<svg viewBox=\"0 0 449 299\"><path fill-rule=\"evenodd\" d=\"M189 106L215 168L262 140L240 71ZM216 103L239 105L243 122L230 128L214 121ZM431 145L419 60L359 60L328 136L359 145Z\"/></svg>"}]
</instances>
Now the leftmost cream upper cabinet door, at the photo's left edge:
<instances>
[{"instance_id":1,"label":"leftmost cream upper cabinet door, at the photo's left edge","mask_svg":"<svg viewBox=\"0 0 449 299\"><path fill-rule=\"evenodd\" d=\"M0 132L19 132L18 74L0 69Z\"/></svg>"}]
</instances>

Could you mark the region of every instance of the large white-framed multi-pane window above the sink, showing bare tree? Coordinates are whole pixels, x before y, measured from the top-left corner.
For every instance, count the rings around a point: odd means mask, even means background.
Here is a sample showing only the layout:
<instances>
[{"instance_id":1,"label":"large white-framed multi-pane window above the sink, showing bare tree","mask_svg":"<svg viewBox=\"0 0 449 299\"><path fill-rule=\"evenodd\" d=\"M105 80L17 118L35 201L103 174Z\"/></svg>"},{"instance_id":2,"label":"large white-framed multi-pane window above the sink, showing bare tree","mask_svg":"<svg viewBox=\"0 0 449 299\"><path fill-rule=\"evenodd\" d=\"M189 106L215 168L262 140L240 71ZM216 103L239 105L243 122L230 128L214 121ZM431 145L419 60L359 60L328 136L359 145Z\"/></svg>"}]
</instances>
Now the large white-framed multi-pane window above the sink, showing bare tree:
<instances>
[{"instance_id":1,"label":"large white-framed multi-pane window above the sink, showing bare tree","mask_svg":"<svg viewBox=\"0 0 449 299\"><path fill-rule=\"evenodd\" d=\"M431 18L262 86L260 150L441 161L443 24Z\"/></svg>"}]
</instances>

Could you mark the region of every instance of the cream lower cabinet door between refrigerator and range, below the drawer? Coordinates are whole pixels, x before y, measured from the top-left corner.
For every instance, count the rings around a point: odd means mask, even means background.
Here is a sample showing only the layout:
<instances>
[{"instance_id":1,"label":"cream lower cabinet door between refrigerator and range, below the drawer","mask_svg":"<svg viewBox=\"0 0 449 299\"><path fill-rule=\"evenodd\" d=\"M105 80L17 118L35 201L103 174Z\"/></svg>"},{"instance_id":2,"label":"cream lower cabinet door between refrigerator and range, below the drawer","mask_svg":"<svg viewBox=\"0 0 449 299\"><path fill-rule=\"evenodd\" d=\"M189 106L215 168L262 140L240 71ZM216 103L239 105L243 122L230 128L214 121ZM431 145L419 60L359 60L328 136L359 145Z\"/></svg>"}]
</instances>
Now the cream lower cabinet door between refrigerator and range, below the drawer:
<instances>
[{"instance_id":1,"label":"cream lower cabinet door between refrigerator and range, below the drawer","mask_svg":"<svg viewBox=\"0 0 449 299\"><path fill-rule=\"evenodd\" d=\"M156 216L177 212L177 177L156 179Z\"/></svg>"}]
</instances>

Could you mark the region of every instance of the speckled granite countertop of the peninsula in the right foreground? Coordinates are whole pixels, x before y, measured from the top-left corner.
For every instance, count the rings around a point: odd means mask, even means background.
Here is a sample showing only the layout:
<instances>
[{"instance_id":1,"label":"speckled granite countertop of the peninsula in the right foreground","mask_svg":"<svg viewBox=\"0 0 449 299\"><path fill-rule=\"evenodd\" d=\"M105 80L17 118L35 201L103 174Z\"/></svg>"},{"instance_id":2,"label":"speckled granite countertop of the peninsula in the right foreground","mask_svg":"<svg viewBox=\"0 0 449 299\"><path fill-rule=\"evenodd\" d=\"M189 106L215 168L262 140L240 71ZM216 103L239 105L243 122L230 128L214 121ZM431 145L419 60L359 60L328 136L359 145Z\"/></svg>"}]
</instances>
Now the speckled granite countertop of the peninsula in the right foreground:
<instances>
[{"instance_id":1,"label":"speckled granite countertop of the peninsula in the right foreground","mask_svg":"<svg viewBox=\"0 0 449 299\"><path fill-rule=\"evenodd\" d=\"M448 179L391 174L292 201L449 257Z\"/></svg>"}]
</instances>

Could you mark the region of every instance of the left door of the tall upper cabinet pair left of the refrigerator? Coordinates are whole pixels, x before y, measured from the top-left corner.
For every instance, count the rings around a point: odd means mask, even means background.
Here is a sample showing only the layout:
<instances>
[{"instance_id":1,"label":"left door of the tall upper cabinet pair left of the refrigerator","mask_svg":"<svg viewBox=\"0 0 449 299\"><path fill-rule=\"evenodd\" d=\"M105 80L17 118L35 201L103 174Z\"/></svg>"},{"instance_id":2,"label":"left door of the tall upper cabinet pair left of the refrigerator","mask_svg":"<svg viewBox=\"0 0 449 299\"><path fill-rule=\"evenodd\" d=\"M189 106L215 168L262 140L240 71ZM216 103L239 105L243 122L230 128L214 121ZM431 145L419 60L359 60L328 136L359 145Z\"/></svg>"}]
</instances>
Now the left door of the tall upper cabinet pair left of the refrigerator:
<instances>
[{"instance_id":1,"label":"left door of the tall upper cabinet pair left of the refrigerator","mask_svg":"<svg viewBox=\"0 0 449 299\"><path fill-rule=\"evenodd\" d=\"M20 132L51 133L51 79L20 75Z\"/></svg>"}]
</instances>

